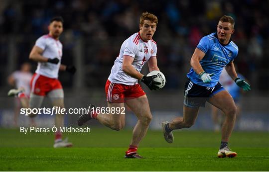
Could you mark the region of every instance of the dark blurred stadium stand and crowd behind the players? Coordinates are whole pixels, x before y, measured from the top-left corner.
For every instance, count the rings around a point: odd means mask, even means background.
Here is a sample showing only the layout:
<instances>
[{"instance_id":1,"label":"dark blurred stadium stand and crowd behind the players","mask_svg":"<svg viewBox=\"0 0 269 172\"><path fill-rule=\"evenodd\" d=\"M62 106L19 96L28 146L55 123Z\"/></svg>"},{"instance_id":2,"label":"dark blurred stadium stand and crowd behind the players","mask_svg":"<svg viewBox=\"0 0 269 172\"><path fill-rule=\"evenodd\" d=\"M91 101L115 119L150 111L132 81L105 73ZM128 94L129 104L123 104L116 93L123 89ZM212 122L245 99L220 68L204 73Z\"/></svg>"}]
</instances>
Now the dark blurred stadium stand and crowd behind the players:
<instances>
[{"instance_id":1,"label":"dark blurred stadium stand and crowd behind the players","mask_svg":"<svg viewBox=\"0 0 269 172\"><path fill-rule=\"evenodd\" d=\"M160 91L142 85L153 114L151 129L160 129L161 121L182 114L191 55L200 38L215 32L218 19L227 14L235 19L232 39L239 46L238 72L252 86L242 99L242 118L236 129L269 131L268 6L268 0L0 0L0 127L14 127L7 76L23 62L30 62L34 72L37 64L28 60L29 52L35 40L47 34L51 17L64 18L62 63L75 65L77 73L60 72L59 80L66 108L78 108L89 103L106 106L104 86L121 44L138 31L139 16L148 11L159 20L153 38L159 69L167 76L167 85ZM144 67L142 73L147 72ZM192 129L213 130L210 113L209 106L201 108ZM53 121L53 116L40 115L36 124L50 127ZM76 126L76 121L77 116L66 116L66 125ZM18 125L28 122L20 116ZM127 115L126 127L135 122L134 115Z\"/></svg>"}]
</instances>

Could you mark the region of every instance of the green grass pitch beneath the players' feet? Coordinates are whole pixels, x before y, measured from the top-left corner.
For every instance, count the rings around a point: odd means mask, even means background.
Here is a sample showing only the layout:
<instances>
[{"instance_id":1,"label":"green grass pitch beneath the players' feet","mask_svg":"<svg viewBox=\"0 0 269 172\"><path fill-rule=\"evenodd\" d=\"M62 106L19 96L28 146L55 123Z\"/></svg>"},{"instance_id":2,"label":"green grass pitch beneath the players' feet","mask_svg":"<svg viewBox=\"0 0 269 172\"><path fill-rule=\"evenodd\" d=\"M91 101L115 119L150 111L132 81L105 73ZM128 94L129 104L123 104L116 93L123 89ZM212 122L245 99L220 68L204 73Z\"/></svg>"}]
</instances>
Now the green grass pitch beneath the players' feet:
<instances>
[{"instance_id":1,"label":"green grass pitch beneath the players' feet","mask_svg":"<svg viewBox=\"0 0 269 172\"><path fill-rule=\"evenodd\" d=\"M132 130L92 128L65 133L73 148L54 149L53 133L0 129L0 171L269 171L269 133L234 132L236 158L217 157L220 133L182 130L168 144L161 131L148 131L138 153L124 159Z\"/></svg>"}]
</instances>

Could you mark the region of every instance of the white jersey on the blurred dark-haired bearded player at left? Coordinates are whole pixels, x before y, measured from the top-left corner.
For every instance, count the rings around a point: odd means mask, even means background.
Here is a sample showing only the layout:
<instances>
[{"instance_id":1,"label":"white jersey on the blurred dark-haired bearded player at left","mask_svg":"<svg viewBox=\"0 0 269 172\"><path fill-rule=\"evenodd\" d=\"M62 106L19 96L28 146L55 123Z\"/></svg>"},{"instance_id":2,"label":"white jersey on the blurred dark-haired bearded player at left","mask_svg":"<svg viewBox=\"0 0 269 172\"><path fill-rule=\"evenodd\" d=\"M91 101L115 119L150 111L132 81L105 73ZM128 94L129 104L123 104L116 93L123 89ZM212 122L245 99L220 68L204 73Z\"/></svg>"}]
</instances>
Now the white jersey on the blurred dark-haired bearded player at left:
<instances>
[{"instance_id":1,"label":"white jersey on the blurred dark-haired bearded player at left","mask_svg":"<svg viewBox=\"0 0 269 172\"><path fill-rule=\"evenodd\" d=\"M35 46L43 50L42 56L50 59L54 59L55 57L59 59L58 64L38 62L35 73L48 78L58 78L58 72L62 59L62 43L47 34L38 38L35 42Z\"/></svg>"}]
</instances>

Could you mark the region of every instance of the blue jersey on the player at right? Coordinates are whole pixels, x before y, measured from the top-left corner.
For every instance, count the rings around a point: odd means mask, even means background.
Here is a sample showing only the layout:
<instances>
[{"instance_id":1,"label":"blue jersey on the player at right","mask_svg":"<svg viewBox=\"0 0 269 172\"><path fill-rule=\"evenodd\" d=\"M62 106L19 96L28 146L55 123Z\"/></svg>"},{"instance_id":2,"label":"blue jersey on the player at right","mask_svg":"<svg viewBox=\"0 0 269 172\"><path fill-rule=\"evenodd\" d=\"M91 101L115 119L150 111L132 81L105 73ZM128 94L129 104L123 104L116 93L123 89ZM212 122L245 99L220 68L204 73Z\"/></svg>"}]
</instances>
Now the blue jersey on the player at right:
<instances>
[{"instance_id":1,"label":"blue jersey on the player at right","mask_svg":"<svg viewBox=\"0 0 269 172\"><path fill-rule=\"evenodd\" d=\"M212 81L210 83L203 83L199 75L191 68L187 77L193 83L200 86L216 86L223 67L233 61L238 55L238 46L231 40L227 45L222 45L217 38L217 34L211 33L204 36L196 48L205 53L204 58L200 61L202 68L206 73L214 73L214 75L211 77Z\"/></svg>"}]
</instances>

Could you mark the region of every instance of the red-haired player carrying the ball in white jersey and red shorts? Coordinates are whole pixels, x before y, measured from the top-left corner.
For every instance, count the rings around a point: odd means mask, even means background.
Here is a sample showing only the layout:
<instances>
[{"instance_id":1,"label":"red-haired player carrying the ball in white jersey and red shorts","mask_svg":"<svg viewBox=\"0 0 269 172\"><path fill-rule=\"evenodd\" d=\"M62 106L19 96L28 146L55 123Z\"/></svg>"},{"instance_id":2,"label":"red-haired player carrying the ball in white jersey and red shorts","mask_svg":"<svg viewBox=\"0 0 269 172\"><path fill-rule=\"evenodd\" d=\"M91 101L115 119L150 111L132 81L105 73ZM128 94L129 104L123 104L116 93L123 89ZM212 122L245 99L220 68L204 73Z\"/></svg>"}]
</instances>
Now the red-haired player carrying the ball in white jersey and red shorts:
<instances>
[{"instance_id":1,"label":"red-haired player carrying the ball in white jersey and red shorts","mask_svg":"<svg viewBox=\"0 0 269 172\"><path fill-rule=\"evenodd\" d=\"M150 89L157 89L157 85L160 85L153 81L157 77L156 75L146 77L140 74L146 62L148 62L150 72L159 71L156 58L157 46L156 42L152 40L157 23L158 19L155 15L148 12L142 13L139 32L134 33L122 44L120 54L115 60L105 86L110 109L117 107L123 109L126 104L138 118L125 158L142 158L137 154L137 148L145 136L152 118L145 92L137 81L140 80ZM79 117L78 125L81 126L90 119L97 119L111 129L121 130L125 126L125 111L98 114L92 110L90 114Z\"/></svg>"}]
</instances>

